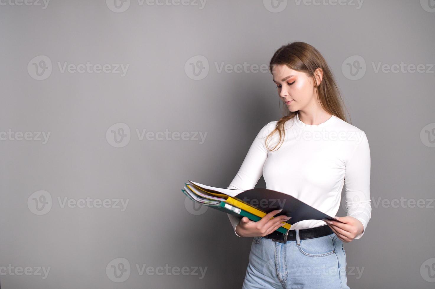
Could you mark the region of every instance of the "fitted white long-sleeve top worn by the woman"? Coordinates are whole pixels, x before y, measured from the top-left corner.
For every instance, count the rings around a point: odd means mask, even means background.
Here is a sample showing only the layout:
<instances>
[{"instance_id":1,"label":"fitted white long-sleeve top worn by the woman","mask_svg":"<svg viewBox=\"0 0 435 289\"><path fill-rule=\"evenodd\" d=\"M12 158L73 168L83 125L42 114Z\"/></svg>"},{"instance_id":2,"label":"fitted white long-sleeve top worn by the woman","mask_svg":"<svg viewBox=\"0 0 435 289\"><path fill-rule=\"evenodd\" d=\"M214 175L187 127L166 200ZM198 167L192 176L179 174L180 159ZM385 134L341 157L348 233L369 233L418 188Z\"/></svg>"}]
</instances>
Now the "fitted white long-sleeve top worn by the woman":
<instances>
[{"instance_id":1,"label":"fitted white long-sleeve top worn by the woman","mask_svg":"<svg viewBox=\"0 0 435 289\"><path fill-rule=\"evenodd\" d=\"M253 189L263 175L267 189L294 196L336 216L345 185L347 216L361 221L364 231L355 239L361 238L371 217L370 149L365 132L337 116L319 125L308 125L296 115L284 124L281 147L270 151L265 140L277 122L271 121L260 130L228 189ZM275 132L269 138L268 148L273 148L278 140ZM235 233L241 218L230 214L228 217ZM304 220L294 223L291 229L325 224L321 220Z\"/></svg>"}]
</instances>

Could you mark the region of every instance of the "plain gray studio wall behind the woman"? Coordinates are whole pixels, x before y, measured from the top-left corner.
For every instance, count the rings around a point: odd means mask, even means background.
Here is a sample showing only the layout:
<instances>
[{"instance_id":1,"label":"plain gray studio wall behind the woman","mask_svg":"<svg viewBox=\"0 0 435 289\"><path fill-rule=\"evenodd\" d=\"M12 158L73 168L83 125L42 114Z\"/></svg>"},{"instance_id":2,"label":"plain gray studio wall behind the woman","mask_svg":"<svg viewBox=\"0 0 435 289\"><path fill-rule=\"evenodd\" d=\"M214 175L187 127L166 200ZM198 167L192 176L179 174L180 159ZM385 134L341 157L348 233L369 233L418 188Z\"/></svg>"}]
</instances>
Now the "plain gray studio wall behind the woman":
<instances>
[{"instance_id":1,"label":"plain gray studio wall behind the woman","mask_svg":"<svg viewBox=\"0 0 435 289\"><path fill-rule=\"evenodd\" d=\"M255 65L296 40L325 56L370 144L372 217L345 243L348 284L434 288L428 0L35 1L0 6L2 288L240 288L252 239L181 188L229 185L259 129L281 116L271 75Z\"/></svg>"}]
</instances>

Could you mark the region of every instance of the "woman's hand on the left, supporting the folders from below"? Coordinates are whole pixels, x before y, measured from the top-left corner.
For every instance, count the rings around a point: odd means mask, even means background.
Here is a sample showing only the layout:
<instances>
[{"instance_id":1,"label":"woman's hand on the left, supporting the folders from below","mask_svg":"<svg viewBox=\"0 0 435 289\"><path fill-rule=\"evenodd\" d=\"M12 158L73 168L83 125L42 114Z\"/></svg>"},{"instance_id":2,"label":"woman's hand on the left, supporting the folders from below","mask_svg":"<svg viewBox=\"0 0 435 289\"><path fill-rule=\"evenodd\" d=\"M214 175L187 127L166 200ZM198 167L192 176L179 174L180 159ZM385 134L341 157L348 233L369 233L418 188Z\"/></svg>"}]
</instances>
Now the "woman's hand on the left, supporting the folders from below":
<instances>
[{"instance_id":1,"label":"woman's hand on the left, supporting the folders from below","mask_svg":"<svg viewBox=\"0 0 435 289\"><path fill-rule=\"evenodd\" d=\"M236 233L241 237L264 237L274 232L281 227L282 222L288 221L291 217L285 215L274 217L281 212L280 210L274 210L268 213L266 216L258 220L257 222L251 221L248 217L243 217L240 223L236 226Z\"/></svg>"}]
</instances>

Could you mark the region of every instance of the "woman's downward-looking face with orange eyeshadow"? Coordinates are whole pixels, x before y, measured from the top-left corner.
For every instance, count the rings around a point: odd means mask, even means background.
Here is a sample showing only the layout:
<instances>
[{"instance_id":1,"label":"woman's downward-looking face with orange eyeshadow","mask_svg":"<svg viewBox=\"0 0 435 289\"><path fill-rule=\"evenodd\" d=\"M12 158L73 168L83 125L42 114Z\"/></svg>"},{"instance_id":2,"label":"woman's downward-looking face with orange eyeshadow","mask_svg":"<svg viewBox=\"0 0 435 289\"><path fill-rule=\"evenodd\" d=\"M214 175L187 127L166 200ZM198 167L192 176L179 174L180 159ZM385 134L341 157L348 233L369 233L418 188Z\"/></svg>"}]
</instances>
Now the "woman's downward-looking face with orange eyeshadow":
<instances>
[{"instance_id":1,"label":"woman's downward-looking face with orange eyeshadow","mask_svg":"<svg viewBox=\"0 0 435 289\"><path fill-rule=\"evenodd\" d=\"M287 105L288 110L298 111L316 106L314 81L305 72L292 70L281 64L273 66L272 75L278 88L278 96Z\"/></svg>"}]
</instances>

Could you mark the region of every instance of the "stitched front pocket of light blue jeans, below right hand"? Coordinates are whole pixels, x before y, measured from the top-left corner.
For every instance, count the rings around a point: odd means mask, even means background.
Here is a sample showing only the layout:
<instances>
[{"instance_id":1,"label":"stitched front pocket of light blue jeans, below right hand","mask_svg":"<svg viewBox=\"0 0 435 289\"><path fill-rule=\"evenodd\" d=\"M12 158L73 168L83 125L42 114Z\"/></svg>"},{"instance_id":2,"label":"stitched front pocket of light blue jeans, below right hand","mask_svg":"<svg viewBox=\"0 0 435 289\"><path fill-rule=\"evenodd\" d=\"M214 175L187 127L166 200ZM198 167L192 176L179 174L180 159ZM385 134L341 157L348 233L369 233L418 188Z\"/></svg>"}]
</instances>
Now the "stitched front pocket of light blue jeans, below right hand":
<instances>
[{"instance_id":1,"label":"stitched front pocket of light blue jeans, below right hand","mask_svg":"<svg viewBox=\"0 0 435 289\"><path fill-rule=\"evenodd\" d=\"M335 253L334 236L301 240L299 251L309 257L324 257Z\"/></svg>"}]
</instances>

